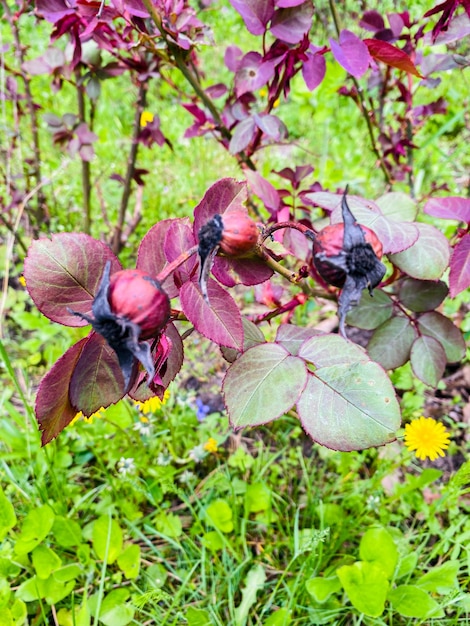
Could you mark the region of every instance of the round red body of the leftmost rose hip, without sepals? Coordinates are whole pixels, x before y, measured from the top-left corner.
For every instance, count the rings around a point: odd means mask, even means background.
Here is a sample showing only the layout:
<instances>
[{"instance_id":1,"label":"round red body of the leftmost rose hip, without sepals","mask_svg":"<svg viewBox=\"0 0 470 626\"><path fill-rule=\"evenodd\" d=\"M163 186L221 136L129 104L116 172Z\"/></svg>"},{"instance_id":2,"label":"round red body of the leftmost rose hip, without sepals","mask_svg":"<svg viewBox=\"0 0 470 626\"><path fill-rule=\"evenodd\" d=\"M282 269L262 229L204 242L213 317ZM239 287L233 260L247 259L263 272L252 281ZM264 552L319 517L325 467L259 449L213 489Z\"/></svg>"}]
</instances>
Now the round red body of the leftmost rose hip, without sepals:
<instances>
[{"instance_id":1,"label":"round red body of the leftmost rose hip, without sepals","mask_svg":"<svg viewBox=\"0 0 470 626\"><path fill-rule=\"evenodd\" d=\"M108 301L118 318L139 326L140 339L154 337L170 316L170 302L160 283L141 270L113 274Z\"/></svg>"}]
</instances>

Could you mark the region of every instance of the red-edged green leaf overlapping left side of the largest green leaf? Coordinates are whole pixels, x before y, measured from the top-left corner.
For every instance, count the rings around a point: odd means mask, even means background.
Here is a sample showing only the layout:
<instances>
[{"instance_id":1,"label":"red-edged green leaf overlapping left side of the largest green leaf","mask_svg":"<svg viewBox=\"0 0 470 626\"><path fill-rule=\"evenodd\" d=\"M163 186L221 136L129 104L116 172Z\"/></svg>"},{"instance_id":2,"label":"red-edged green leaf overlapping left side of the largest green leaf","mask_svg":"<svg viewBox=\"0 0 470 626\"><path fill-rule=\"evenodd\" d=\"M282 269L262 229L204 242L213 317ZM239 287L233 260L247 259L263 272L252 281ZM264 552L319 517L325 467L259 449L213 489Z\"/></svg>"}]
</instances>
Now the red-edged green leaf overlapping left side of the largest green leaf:
<instances>
[{"instance_id":1,"label":"red-edged green leaf overlapping left side of the largest green leaf","mask_svg":"<svg viewBox=\"0 0 470 626\"><path fill-rule=\"evenodd\" d=\"M302 359L275 343L250 348L228 369L225 403L235 429L266 424L284 415L307 381Z\"/></svg>"}]
</instances>

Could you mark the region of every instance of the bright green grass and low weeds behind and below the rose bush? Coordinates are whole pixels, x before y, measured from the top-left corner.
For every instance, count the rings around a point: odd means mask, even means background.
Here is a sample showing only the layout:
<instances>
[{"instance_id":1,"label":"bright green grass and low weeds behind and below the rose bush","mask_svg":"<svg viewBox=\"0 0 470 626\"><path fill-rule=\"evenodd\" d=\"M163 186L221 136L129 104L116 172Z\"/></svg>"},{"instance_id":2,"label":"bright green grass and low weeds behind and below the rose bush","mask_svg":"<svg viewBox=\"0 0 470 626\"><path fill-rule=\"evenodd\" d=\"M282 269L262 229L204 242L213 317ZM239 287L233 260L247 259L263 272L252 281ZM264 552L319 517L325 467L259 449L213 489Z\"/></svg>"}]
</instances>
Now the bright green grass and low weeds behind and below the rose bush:
<instances>
[{"instance_id":1,"label":"bright green grass and low weeds behind and below the rose bush","mask_svg":"<svg viewBox=\"0 0 470 626\"><path fill-rule=\"evenodd\" d=\"M353 4L344 3L344 11L356 10ZM425 4L413 3L416 16ZM396 3L387 6L393 10ZM318 10L326 11L327 3L319 3ZM202 51L209 85L227 76L221 61L227 36L244 51L255 38L246 34L227 2L209 7L205 17L216 33L215 48ZM21 28L31 46L28 56L42 53L48 25L22 18ZM8 41L3 24L1 32ZM319 30L325 41L331 35ZM189 97L181 78L176 73L172 78ZM272 170L311 163L316 168L312 180L325 188L349 182L355 193L371 198L384 192L375 157L365 147L365 122L352 101L336 95L343 82L343 70L333 64L313 93L300 77L294 79L288 104L277 111L295 147L287 153L270 147L259 157L260 171L273 183L279 179ZM433 97L446 97L449 110L419 132L415 191L420 197L433 182L447 184L451 194L465 193L468 131L461 111L467 83L462 71L444 76L433 92ZM70 85L52 94L48 79L37 77L33 91L43 111L76 111ZM116 219L121 188L110 175L125 171L135 97L135 88L123 77L102 85L92 162L96 237L109 231L103 212L111 225ZM2 106L2 129L9 132L12 111ZM182 138L192 120L167 86L154 82L147 108L161 117L173 151L167 146L139 151L138 167L149 173L142 221L122 254L129 265L155 221L191 215L217 179L242 177L210 137ZM80 230L80 163L52 145L41 111L39 119L43 173L50 179L45 187L50 230ZM21 124L19 149L9 163L15 174L22 171L30 145L27 120ZM134 196L131 209L133 202ZM22 222L20 234L27 244L27 223ZM418 464L401 441L358 453L327 450L312 443L291 416L235 435L225 415L198 421L196 393L185 383L195 376L211 393L218 392L225 365L205 341L187 341L187 364L163 406L143 416L123 400L92 423L77 421L41 448L33 415L38 382L86 329L51 324L36 311L17 280L24 254L18 247L8 256L7 243L5 232L2 267L8 262L10 280L0 370L0 626L470 623L468 463L455 471L468 454L463 418L447 420L454 441L448 459L436 467ZM449 314L460 315L465 296L446 306ZM321 314L318 307L306 306L296 312L296 321L304 324ZM469 324L467 314L462 320L467 333ZM267 336L273 332L265 330ZM396 372L394 382L403 415L420 415L429 391L409 368ZM454 406L462 409L464 398L455 398ZM211 439L217 442L214 452L204 449ZM375 547L375 559L368 560L361 539L376 528L386 535ZM441 617L407 616L388 601L380 616L367 616L338 586L340 568L380 561L394 550L390 588L411 585L425 591ZM432 576L437 582L429 582ZM327 589L320 599L319 585Z\"/></svg>"}]
</instances>

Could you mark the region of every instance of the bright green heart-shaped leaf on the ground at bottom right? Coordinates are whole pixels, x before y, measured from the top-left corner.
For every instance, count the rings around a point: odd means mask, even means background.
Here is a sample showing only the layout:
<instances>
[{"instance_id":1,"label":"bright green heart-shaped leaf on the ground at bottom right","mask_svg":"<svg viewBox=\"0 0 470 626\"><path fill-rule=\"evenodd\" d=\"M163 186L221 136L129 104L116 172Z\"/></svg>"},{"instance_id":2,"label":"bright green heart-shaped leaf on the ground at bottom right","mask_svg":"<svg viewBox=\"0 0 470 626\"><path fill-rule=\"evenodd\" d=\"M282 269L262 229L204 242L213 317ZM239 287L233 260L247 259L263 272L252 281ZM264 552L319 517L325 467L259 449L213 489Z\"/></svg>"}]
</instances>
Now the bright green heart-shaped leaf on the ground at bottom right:
<instances>
[{"instance_id":1,"label":"bright green heart-shaped leaf on the ground at bottom right","mask_svg":"<svg viewBox=\"0 0 470 626\"><path fill-rule=\"evenodd\" d=\"M379 617L385 609L389 582L375 563L358 561L336 570L351 604L369 617Z\"/></svg>"}]
</instances>

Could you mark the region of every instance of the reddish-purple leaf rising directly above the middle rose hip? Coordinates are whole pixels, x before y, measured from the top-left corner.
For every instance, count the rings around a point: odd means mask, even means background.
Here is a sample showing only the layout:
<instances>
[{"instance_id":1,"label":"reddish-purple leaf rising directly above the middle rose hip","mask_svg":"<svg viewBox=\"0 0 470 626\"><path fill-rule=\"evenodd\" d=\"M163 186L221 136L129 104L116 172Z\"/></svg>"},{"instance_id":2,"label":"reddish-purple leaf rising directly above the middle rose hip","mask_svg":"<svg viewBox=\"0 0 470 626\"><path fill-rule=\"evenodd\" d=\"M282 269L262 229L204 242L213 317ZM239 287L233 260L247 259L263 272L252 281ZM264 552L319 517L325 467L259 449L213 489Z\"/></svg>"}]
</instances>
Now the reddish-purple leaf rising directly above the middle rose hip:
<instances>
[{"instance_id":1,"label":"reddish-purple leaf rising directly above the middle rose hip","mask_svg":"<svg viewBox=\"0 0 470 626\"><path fill-rule=\"evenodd\" d=\"M202 226L216 213L225 211L246 211L245 202L248 194L245 181L234 178L221 178L204 194L201 202L194 209L194 237L197 238Z\"/></svg>"}]
</instances>

